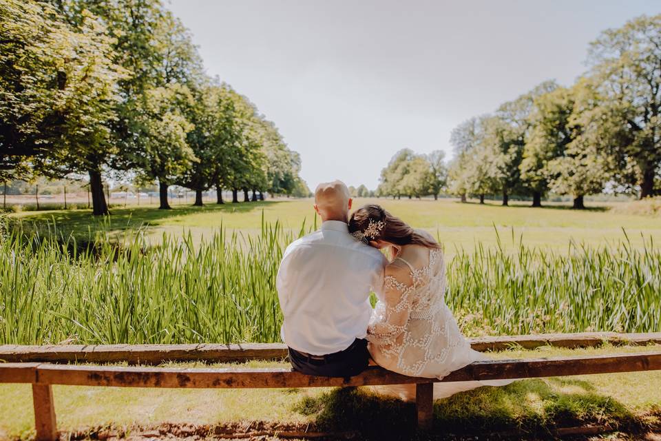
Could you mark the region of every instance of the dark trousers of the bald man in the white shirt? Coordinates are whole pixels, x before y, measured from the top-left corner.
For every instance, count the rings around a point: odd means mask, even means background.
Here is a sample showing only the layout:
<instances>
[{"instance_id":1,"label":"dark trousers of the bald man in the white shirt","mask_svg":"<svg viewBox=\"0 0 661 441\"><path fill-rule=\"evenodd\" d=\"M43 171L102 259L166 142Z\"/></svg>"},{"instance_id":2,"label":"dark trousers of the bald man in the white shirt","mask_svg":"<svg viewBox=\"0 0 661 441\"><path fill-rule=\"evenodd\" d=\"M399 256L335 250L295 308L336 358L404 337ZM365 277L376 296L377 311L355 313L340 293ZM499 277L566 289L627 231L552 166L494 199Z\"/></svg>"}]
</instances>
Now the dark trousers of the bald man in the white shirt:
<instances>
[{"instance_id":1,"label":"dark trousers of the bald man in the white shirt","mask_svg":"<svg viewBox=\"0 0 661 441\"><path fill-rule=\"evenodd\" d=\"M348 378L358 375L368 366L370 353L367 340L357 338L350 347L324 356L312 356L289 348L292 367L308 375Z\"/></svg>"}]
</instances>

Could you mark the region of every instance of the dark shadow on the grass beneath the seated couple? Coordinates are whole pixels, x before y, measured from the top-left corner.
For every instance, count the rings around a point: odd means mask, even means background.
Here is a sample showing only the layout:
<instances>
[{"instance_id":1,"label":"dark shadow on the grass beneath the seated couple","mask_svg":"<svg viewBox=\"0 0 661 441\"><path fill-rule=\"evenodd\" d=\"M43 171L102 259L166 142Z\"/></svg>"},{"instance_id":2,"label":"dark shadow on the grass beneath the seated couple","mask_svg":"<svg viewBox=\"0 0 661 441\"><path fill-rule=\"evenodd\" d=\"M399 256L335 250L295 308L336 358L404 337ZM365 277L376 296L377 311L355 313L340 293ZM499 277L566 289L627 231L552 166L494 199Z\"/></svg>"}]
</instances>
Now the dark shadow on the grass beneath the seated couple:
<instances>
[{"instance_id":1,"label":"dark shadow on the grass beneath the seated couple","mask_svg":"<svg viewBox=\"0 0 661 441\"><path fill-rule=\"evenodd\" d=\"M373 440L410 437L415 418L414 404L379 396L367 388L334 389L306 397L292 411L313 416L319 429L360 431ZM628 431L644 425L623 404L596 393L589 382L534 379L499 388L481 387L437 400L433 429L421 439L507 431L552 438L555 428L585 424Z\"/></svg>"}]
</instances>

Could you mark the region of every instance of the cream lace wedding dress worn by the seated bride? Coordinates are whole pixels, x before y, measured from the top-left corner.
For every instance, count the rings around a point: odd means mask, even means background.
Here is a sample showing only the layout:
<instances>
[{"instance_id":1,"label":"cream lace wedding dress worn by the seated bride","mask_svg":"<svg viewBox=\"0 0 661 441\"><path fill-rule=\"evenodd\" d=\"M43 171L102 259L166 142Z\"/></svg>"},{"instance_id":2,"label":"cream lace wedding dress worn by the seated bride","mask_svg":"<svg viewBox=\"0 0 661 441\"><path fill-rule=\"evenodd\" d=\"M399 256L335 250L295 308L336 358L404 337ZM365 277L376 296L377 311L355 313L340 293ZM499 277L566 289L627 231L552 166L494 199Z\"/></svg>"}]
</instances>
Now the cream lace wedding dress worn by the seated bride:
<instances>
[{"instance_id":1,"label":"cream lace wedding dress worn by the seated bride","mask_svg":"<svg viewBox=\"0 0 661 441\"><path fill-rule=\"evenodd\" d=\"M402 258L386 268L383 298L368 327L369 350L377 364L408 376L443 378L476 360L474 351L445 305L445 263L441 249L421 252L416 260ZM434 398L481 386L503 386L511 380L434 383ZM415 385L375 387L379 393L415 399Z\"/></svg>"}]
</instances>

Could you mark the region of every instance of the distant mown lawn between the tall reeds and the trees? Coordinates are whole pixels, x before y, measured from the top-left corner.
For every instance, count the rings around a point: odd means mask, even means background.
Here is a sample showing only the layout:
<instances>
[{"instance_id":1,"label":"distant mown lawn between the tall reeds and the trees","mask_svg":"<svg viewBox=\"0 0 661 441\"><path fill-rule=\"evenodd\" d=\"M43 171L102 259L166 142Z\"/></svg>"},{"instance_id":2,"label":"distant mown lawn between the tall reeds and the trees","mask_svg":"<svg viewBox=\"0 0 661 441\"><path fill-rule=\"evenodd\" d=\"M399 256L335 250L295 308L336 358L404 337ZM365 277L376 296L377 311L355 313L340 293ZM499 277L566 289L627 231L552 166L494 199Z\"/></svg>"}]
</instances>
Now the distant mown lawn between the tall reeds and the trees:
<instances>
[{"instance_id":1,"label":"distant mown lawn between the tall reeds and the trees","mask_svg":"<svg viewBox=\"0 0 661 441\"><path fill-rule=\"evenodd\" d=\"M523 237L524 243L534 246L549 246L566 249L570 240L590 245L613 243L625 238L626 229L631 241L642 243L641 234L661 241L661 222L653 216L616 214L609 211L607 204L594 205L587 210L576 211L566 205L548 203L543 208L528 207L528 203L513 203L501 207L497 203L479 205L461 204L454 199L429 199L417 201L402 199L357 199L355 207L364 203L379 203L390 212L401 216L414 227L428 229L446 245L446 250L472 249L476 242L485 245L496 244L494 227L498 230L505 245L512 243L512 237ZM127 207L112 209L109 218L94 218L89 210L48 212L23 212L11 214L12 219L36 221L41 227L47 223L56 224L60 232L74 232L85 236L88 230L123 231L143 226L158 237L161 232L182 234L190 232L196 240L209 236L214 229L226 227L251 233L260 229L262 214L269 222L276 220L284 227L300 230L303 223L310 228L315 223L311 199L277 200L257 203L239 203L192 207L174 205L171 210L158 210L150 207Z\"/></svg>"}]
</instances>

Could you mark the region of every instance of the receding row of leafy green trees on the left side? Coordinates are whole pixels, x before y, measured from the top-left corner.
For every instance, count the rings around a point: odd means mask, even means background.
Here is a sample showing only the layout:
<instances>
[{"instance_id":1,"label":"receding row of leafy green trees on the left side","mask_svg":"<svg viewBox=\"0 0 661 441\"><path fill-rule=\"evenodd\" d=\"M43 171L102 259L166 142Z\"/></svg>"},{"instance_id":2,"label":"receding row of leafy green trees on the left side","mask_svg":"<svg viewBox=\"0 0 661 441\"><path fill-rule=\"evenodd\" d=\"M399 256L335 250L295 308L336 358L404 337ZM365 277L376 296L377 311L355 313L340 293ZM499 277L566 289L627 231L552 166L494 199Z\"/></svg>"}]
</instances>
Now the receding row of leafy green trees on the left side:
<instances>
[{"instance_id":1,"label":"receding row of leafy green trees on the left side","mask_svg":"<svg viewBox=\"0 0 661 441\"><path fill-rule=\"evenodd\" d=\"M102 174L253 199L305 192L300 156L229 85L204 74L160 0L0 0L0 180Z\"/></svg>"}]
</instances>

